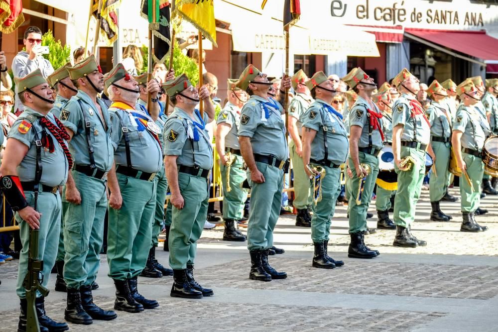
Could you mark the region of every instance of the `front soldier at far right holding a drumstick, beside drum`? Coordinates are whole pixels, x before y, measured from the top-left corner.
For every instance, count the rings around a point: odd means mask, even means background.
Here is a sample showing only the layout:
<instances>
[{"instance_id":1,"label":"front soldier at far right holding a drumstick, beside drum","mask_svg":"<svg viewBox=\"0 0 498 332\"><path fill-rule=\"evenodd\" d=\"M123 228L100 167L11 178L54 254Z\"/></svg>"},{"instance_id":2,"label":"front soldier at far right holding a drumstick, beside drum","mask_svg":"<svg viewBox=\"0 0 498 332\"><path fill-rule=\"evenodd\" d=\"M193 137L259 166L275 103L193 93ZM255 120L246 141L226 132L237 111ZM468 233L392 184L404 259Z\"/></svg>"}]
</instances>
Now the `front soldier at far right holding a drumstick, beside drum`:
<instances>
[{"instance_id":1,"label":"front soldier at far right holding a drumstick, beside drum","mask_svg":"<svg viewBox=\"0 0 498 332\"><path fill-rule=\"evenodd\" d=\"M472 80L467 79L460 83L457 93L463 104L453 121L451 141L457 165L462 170L460 194L463 221L460 230L479 232L488 230L487 226L481 226L475 219L475 211L481 199L479 188L484 174L481 152L486 139L486 126L475 107L480 98Z\"/></svg>"}]
</instances>

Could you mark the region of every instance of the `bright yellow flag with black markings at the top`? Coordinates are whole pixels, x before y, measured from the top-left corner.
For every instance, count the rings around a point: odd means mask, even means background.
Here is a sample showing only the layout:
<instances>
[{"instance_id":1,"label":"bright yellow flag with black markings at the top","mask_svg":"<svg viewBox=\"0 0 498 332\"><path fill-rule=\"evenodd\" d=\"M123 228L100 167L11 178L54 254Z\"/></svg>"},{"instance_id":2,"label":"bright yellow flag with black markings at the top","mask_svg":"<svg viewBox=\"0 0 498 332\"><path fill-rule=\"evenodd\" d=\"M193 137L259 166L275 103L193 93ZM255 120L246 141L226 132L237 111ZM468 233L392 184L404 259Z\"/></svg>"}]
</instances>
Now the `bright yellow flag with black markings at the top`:
<instances>
[{"instance_id":1,"label":"bright yellow flag with black markings at the top","mask_svg":"<svg viewBox=\"0 0 498 332\"><path fill-rule=\"evenodd\" d=\"M216 44L215 9L213 0L177 0L175 1L173 17L180 16L189 21L202 34L209 39L213 45Z\"/></svg>"}]
</instances>

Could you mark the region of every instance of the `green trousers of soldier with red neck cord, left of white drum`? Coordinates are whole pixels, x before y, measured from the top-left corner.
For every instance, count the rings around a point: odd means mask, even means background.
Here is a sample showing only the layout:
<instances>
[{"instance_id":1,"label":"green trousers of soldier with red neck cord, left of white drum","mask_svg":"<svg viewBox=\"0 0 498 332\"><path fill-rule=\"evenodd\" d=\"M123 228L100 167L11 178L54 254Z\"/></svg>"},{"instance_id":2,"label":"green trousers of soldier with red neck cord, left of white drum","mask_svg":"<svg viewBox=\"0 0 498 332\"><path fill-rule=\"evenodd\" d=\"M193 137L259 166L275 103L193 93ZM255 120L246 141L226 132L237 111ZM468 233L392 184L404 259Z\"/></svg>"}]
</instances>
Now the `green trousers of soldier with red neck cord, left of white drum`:
<instances>
[{"instance_id":1,"label":"green trousers of soldier with red neck cord, left of white drum","mask_svg":"<svg viewBox=\"0 0 498 332\"><path fill-rule=\"evenodd\" d=\"M378 158L376 156L365 152L359 152L358 158L360 164L364 163L370 165L371 172L367 176L360 204L357 204L356 199L358 197L358 189L360 188L361 179L356 173L353 159L349 158L349 167L353 172L353 179L350 179L351 191L348 203L349 232L352 234L367 230L367 211L369 209L370 202L372 201L373 187L375 186L375 180L377 179L378 174Z\"/></svg>"}]
</instances>

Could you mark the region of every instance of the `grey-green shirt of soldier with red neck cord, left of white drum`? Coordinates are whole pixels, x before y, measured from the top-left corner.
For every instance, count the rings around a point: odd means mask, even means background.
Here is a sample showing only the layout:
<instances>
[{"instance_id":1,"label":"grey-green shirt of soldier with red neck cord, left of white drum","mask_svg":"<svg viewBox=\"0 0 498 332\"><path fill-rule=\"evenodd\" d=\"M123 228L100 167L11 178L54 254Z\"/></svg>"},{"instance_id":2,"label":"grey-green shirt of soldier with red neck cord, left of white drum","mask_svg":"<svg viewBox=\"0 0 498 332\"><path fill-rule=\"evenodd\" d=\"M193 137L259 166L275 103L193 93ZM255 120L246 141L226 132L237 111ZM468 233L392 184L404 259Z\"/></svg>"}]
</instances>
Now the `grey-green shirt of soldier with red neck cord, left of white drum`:
<instances>
[{"instance_id":1,"label":"grey-green shirt of soldier with red neck cord, left of white drum","mask_svg":"<svg viewBox=\"0 0 498 332\"><path fill-rule=\"evenodd\" d=\"M355 105L351 108L349 113L349 125L354 126L357 125L362 129L362 135L360 136L360 140L358 141L358 147L368 147L369 146L369 131L370 131L370 120L367 114L367 110L380 113L377 106L373 104L374 109L369 105L362 97L358 96ZM375 121L380 121L380 119L374 119ZM379 122L380 124L380 122ZM380 136L380 131L377 129L372 130L372 146L375 149L382 149L382 137Z\"/></svg>"}]
</instances>

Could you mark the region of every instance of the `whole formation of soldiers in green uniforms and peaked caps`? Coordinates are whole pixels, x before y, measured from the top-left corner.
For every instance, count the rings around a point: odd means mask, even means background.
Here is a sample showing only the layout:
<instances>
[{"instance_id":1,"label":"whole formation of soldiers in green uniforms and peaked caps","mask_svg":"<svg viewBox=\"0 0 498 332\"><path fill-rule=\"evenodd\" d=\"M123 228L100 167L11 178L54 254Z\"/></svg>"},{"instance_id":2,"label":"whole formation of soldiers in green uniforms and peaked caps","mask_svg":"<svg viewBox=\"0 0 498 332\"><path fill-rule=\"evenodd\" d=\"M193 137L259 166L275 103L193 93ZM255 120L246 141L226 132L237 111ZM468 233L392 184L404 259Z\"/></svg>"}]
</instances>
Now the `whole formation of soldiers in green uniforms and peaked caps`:
<instances>
[{"instance_id":1,"label":"whole formation of soldiers in green uniforms and peaked caps","mask_svg":"<svg viewBox=\"0 0 498 332\"><path fill-rule=\"evenodd\" d=\"M297 136L290 131L293 138L290 156L296 200L302 204L296 206L298 218L310 221L312 227L315 246L312 265L319 268L344 265L328 255L327 245L340 193L341 164L346 162L351 196L349 256L373 258L379 254L365 246L364 232L378 173L377 155L384 142L389 143L389 127L392 127L390 139L398 173L394 245L425 245L425 241L411 233L410 224L425 173L425 150L436 165L448 163L449 158L440 157L444 156L441 149L449 150L448 129L452 122L446 104L438 102L441 101L438 96L446 98L445 90L437 82L429 87L435 101L432 130L440 124L439 132L432 132L429 119L415 100L418 80L406 69L393 80L393 87L401 93L394 104L386 85L373 96L376 84L360 68L343 79L358 95L348 114L348 125L344 124L343 114L331 106L338 82L328 79L323 72L310 79L302 71L284 78L275 99L276 91L266 75L252 65L239 79L229 80L229 103L217 118L216 137L224 188L224 238L246 240L235 229L234 221L243 217L247 191L242 184L247 179L251 189L247 235L250 279L270 281L287 277L285 272L271 267L268 254L273 247L273 229L280 211L283 174L289 166L284 109L279 101L286 98L285 90L291 86L297 94L290 103L289 123L297 129ZM99 308L92 297L106 210L109 276L116 286L114 309L136 313L157 307L157 301L138 292L137 276L150 264L165 275L171 274L154 257L168 188L172 220L168 232L169 265L174 279L171 296L213 295L211 289L202 287L193 277L196 242L206 220L213 167L206 124L214 119L215 112L207 88L198 90L184 74L175 78L170 72L162 87L174 105L174 111L167 116L164 105L158 103L160 87L155 80L147 82L146 75L130 77L122 64L104 75L93 56L74 67L66 65L57 70L48 83L39 71L14 80L16 93L26 109L8 133L0 186L16 211L23 242L17 279L19 330L25 331L27 324L28 304L22 281L28 269L30 228L40 232L43 285L48 283L51 267L56 260L59 262L57 267L62 270L67 290L65 319L91 324L93 320L117 317L114 311ZM55 104L50 86L57 91ZM496 96L497 85L492 88ZM110 107L99 98L104 90L112 102ZM474 188L480 187L483 166L473 151L482 149L486 136L483 121L479 121L480 115L474 108L480 100L477 91L472 80L456 87L463 104L453 121L458 166L467 170ZM145 107L147 94L152 97L149 110ZM196 109L200 101L204 112ZM493 101L496 105L496 99ZM443 115L435 117L437 114ZM436 153L429 144L431 135L445 138ZM432 143L435 142L439 141L433 139ZM411 165L407 163L408 156ZM436 203L446 194L448 181L447 171L437 170L443 178L437 181L443 185L438 193L431 193L431 201ZM319 197L315 197L310 179L319 183ZM462 230L485 230L474 219L479 192L473 192L471 184L460 186ZM61 186L63 190L59 193ZM385 207L377 210L389 209L390 195L385 193ZM377 191L377 200L378 196ZM439 209L438 205L433 205L435 209ZM313 212L311 220L309 210ZM379 222L392 228L392 222L386 218ZM65 323L46 316L41 294L36 299L36 309L41 331L68 329Z\"/></svg>"}]
</instances>

